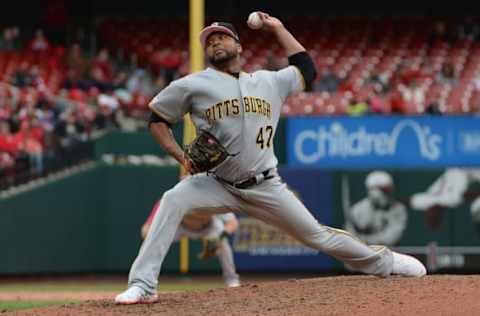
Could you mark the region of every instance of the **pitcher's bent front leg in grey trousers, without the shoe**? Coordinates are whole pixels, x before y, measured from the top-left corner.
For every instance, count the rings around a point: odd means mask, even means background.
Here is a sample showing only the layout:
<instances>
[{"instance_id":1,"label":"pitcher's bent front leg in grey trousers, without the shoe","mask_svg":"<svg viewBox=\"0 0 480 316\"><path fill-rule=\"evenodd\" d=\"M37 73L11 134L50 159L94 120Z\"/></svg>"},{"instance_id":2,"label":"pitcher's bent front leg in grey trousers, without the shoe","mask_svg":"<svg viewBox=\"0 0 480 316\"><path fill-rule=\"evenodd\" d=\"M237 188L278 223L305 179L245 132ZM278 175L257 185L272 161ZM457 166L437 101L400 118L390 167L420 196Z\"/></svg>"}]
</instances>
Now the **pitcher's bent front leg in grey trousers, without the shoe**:
<instances>
[{"instance_id":1,"label":"pitcher's bent front leg in grey trousers, without the shoe","mask_svg":"<svg viewBox=\"0 0 480 316\"><path fill-rule=\"evenodd\" d=\"M129 287L154 293L167 251L183 216L195 211L230 211L236 199L216 180L206 175L189 177L164 194L147 238L132 265Z\"/></svg>"}]
</instances>

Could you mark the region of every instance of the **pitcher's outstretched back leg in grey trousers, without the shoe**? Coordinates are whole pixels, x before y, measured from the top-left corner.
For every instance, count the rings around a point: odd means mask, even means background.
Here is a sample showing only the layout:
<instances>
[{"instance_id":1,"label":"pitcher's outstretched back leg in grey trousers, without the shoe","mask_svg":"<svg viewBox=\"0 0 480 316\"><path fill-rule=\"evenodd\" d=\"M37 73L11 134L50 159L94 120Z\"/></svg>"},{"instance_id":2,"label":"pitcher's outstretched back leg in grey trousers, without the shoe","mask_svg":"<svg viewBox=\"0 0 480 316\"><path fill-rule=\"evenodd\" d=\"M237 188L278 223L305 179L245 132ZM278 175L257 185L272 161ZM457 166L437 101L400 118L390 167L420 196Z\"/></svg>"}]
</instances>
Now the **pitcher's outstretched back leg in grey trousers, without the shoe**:
<instances>
[{"instance_id":1,"label":"pitcher's outstretched back leg in grey trousers, without the shoe","mask_svg":"<svg viewBox=\"0 0 480 316\"><path fill-rule=\"evenodd\" d=\"M268 192L270 191L270 192ZM270 199L267 200L268 195ZM260 192L250 215L286 231L306 246L327 253L350 268L379 276L392 272L392 252L383 246L368 246L340 229L324 226L284 184Z\"/></svg>"}]
</instances>

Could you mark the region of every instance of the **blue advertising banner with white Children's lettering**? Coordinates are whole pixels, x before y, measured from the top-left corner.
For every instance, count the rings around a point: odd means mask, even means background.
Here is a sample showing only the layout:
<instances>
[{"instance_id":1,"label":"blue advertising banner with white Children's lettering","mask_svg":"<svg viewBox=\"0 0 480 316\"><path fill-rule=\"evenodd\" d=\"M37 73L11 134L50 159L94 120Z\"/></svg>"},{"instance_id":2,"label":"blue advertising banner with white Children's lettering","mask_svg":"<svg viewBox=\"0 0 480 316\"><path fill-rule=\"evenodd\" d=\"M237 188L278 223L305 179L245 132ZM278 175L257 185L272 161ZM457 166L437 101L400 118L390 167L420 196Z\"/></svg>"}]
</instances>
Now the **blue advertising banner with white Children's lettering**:
<instances>
[{"instance_id":1,"label":"blue advertising banner with white Children's lettering","mask_svg":"<svg viewBox=\"0 0 480 316\"><path fill-rule=\"evenodd\" d=\"M287 141L295 167L478 166L480 117L292 118Z\"/></svg>"}]
</instances>

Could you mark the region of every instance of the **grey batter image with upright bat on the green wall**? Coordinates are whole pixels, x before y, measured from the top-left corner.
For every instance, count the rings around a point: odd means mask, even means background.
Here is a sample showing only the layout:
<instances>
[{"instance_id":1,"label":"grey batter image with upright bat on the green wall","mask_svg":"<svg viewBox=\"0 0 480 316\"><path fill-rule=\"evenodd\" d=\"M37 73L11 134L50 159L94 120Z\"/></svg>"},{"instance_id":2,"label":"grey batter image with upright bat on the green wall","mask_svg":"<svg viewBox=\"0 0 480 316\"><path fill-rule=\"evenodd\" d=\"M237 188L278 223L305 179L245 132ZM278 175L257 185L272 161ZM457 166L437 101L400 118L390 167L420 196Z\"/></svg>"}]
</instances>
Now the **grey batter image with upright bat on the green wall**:
<instances>
[{"instance_id":1,"label":"grey batter image with upright bat on the green wall","mask_svg":"<svg viewBox=\"0 0 480 316\"><path fill-rule=\"evenodd\" d=\"M344 180L345 181L345 180ZM407 227L407 208L393 197L394 183L385 171L365 179L367 197L350 207L348 183L342 184L345 229L369 244L395 245Z\"/></svg>"}]
</instances>

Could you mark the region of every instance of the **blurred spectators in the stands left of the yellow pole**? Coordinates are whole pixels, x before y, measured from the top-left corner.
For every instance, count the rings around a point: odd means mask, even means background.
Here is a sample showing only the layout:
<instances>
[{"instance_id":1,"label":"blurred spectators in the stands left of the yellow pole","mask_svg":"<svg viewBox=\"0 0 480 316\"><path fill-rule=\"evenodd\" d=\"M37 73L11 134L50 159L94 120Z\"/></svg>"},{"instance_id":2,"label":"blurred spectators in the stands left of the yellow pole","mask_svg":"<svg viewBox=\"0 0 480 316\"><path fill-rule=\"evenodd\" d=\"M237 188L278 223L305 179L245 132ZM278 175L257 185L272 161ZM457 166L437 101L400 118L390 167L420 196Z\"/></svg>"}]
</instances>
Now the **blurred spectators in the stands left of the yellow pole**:
<instances>
[{"instance_id":1,"label":"blurred spectators in the stands left of the yellow pole","mask_svg":"<svg viewBox=\"0 0 480 316\"><path fill-rule=\"evenodd\" d=\"M45 174L57 159L109 129L146 128L149 99L177 74L138 67L99 49L53 45L42 30L0 38L0 178ZM10 179L10 180L8 180ZM4 184L5 185L5 184ZM0 184L1 186L1 184Z\"/></svg>"}]
</instances>

